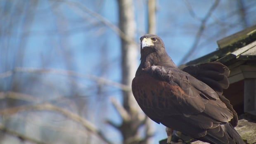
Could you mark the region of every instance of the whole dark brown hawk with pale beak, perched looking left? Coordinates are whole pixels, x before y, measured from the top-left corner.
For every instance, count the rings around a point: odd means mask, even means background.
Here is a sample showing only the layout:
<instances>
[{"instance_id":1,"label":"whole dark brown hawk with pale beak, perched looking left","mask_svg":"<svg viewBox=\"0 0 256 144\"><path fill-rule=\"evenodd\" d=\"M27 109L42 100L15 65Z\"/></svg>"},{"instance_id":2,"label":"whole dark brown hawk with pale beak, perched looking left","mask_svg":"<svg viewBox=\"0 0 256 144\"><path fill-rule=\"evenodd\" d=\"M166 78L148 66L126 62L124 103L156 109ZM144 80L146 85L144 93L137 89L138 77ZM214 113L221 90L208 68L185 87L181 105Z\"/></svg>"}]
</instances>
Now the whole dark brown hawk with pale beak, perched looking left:
<instances>
[{"instance_id":1,"label":"whole dark brown hawk with pale beak, perched looking left","mask_svg":"<svg viewBox=\"0 0 256 144\"><path fill-rule=\"evenodd\" d=\"M141 109L156 123L211 144L244 144L237 114L222 93L229 69L218 62L180 70L156 35L141 40L141 63L132 83Z\"/></svg>"}]
</instances>

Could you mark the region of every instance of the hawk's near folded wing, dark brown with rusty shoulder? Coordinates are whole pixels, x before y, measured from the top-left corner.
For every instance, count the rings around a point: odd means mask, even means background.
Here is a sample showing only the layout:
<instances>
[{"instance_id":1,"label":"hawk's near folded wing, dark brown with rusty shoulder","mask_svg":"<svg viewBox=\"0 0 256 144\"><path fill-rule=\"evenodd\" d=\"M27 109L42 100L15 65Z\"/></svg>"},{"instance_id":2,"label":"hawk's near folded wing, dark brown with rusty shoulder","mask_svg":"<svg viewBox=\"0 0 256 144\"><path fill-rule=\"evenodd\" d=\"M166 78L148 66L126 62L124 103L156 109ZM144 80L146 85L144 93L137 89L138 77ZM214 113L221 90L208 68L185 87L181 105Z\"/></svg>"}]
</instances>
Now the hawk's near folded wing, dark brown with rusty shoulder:
<instances>
[{"instance_id":1,"label":"hawk's near folded wing, dark brown with rusty shoulder","mask_svg":"<svg viewBox=\"0 0 256 144\"><path fill-rule=\"evenodd\" d=\"M141 109L157 123L192 137L206 132L226 143L220 124L230 121L232 112L208 85L176 68L152 66L135 76L132 90Z\"/></svg>"}]
</instances>

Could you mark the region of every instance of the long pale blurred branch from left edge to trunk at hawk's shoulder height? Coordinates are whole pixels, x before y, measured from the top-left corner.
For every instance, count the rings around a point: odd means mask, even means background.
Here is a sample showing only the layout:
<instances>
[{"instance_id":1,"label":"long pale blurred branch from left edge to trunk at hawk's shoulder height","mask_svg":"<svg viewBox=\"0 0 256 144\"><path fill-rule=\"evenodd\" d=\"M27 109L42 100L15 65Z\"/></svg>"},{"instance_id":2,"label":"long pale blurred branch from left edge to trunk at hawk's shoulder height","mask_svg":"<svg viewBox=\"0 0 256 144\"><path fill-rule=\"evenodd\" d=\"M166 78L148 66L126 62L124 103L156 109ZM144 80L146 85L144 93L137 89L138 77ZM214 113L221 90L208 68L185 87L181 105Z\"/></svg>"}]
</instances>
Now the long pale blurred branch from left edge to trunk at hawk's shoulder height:
<instances>
[{"instance_id":1,"label":"long pale blurred branch from left edge to trunk at hawk's shoulder height","mask_svg":"<svg viewBox=\"0 0 256 144\"><path fill-rule=\"evenodd\" d=\"M6 77L9 77L9 76L12 76L12 74L15 73L15 72L23 72L23 73L53 73L53 74L61 74L61 75L65 75L65 76L74 76L74 77L78 77L78 78L85 78L85 79L94 80L97 83L106 84L106 85L110 85L110 86L113 86L113 87L117 87L117 88L119 88L121 90L124 90L124 91L130 90L130 87L128 87L127 85L123 85L121 83L117 83L117 82L108 80L106 78L102 78L102 77L98 77L98 76L94 76L94 75L89 75L89 74L77 73L75 71L62 70L62 69L53 69L53 68L42 69L42 68L16 67L12 71L6 71L4 73L0 73L0 78L6 78Z\"/></svg>"}]
</instances>

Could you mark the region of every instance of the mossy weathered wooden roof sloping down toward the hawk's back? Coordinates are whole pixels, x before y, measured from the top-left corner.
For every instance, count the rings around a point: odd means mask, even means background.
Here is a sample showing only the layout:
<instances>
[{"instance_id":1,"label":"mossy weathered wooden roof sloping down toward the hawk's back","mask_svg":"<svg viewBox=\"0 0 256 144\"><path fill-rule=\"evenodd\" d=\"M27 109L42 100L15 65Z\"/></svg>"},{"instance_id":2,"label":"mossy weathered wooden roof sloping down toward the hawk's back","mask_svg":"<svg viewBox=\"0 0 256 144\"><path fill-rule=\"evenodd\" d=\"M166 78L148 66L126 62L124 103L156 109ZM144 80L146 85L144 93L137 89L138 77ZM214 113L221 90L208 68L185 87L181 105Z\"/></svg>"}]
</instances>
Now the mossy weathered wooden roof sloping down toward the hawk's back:
<instances>
[{"instance_id":1,"label":"mossy weathered wooden roof sloping down toward the hawk's back","mask_svg":"<svg viewBox=\"0 0 256 144\"><path fill-rule=\"evenodd\" d=\"M235 58L244 60L256 60L256 49L247 52L249 49L256 45L255 41L256 25L247 28L244 31L235 33L234 35L231 35L229 37L223 38L222 40L219 40L218 50L211 52L210 54L206 54L205 56L198 59L189 61L188 63L181 65L180 68L184 68L185 66L192 64L202 64L209 61L219 61L221 63L225 63Z\"/></svg>"}]
</instances>

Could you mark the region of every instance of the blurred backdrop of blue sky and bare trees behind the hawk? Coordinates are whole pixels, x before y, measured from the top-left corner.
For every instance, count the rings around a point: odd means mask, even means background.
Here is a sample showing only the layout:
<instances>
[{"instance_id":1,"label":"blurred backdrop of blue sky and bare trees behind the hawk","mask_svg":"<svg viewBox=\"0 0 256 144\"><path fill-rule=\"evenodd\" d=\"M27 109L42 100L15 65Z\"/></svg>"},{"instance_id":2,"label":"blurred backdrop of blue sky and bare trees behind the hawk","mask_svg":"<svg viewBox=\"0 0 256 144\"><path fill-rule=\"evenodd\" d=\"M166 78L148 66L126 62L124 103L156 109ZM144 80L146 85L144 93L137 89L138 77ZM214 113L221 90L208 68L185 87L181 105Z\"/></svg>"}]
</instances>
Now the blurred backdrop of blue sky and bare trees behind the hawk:
<instances>
[{"instance_id":1,"label":"blurred backdrop of blue sky and bare trees behind the hawk","mask_svg":"<svg viewBox=\"0 0 256 144\"><path fill-rule=\"evenodd\" d=\"M157 143L165 127L131 93L140 36L183 64L255 13L255 0L0 0L0 143Z\"/></svg>"}]
</instances>

